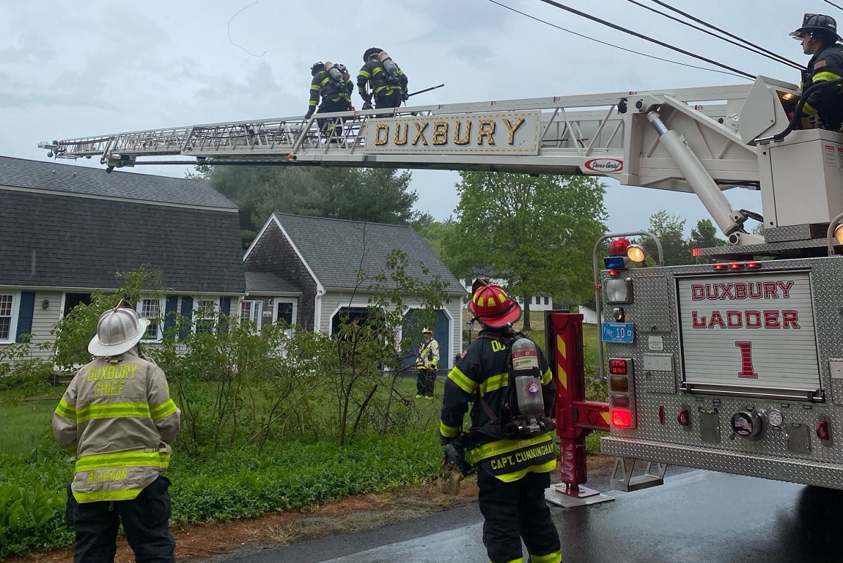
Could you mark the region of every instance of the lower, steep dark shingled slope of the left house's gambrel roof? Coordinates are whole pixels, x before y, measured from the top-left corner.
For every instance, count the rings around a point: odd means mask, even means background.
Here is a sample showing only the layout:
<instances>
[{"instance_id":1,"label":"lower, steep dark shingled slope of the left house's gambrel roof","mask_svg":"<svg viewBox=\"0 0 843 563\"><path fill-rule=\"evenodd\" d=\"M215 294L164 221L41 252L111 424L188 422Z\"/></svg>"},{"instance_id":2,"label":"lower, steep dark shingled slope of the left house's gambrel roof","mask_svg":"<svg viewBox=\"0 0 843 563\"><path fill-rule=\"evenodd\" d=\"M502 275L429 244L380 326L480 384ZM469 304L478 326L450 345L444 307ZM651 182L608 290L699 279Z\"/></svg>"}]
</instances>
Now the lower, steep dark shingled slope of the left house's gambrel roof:
<instances>
[{"instance_id":1,"label":"lower, steep dark shingled slope of the left house's gambrel roof","mask_svg":"<svg viewBox=\"0 0 843 563\"><path fill-rule=\"evenodd\" d=\"M242 257L238 214L228 210L0 187L3 285L110 289L121 284L116 272L148 264L166 289L239 294Z\"/></svg>"}]
</instances>

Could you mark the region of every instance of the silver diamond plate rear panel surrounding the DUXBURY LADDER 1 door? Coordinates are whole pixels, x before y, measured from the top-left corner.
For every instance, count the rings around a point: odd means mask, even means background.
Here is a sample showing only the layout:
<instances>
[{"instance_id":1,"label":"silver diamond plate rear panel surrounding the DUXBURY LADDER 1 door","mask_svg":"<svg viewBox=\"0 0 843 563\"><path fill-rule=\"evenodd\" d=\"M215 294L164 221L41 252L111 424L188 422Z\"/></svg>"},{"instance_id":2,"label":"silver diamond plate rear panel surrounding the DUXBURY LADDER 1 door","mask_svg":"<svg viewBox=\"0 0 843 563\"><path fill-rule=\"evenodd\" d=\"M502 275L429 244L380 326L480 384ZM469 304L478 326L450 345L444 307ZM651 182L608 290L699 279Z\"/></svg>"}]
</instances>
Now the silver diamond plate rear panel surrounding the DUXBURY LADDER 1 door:
<instances>
[{"instance_id":1,"label":"silver diamond plate rear panel surrounding the DUXBURY LADDER 1 door","mask_svg":"<svg viewBox=\"0 0 843 563\"><path fill-rule=\"evenodd\" d=\"M761 269L790 268L810 271L819 380L826 402L701 395L671 385L669 378L647 380L645 356L652 357L654 353L673 355L674 384L678 385L683 380L682 351L675 328L678 326L675 276L721 273L715 272L711 264L632 269L629 274L636 284L635 301L624 306L628 320L636 323L635 342L606 343L606 357L631 357L635 360L639 384L639 392L636 393L637 428L613 429L610 438L604 438L604 454L843 488L843 440L835 440L830 447L820 447L821 441L813 432L821 417L828 417L833 434L843 432L843 406L840 406L843 402L843 379L832 380L830 377L830 361L843 358L843 258L768 261ZM647 281L641 284L645 277ZM663 279L664 283L655 281L657 279ZM645 311L653 305L658 307L656 315ZM657 326L663 324L665 309L671 319L670 331L649 332L652 327L647 327L642 319L656 318ZM658 348L661 349L650 348L650 336L660 337ZM832 398L834 401L831 401ZM665 414L664 423L659 422L660 406ZM676 421L676 415L683 407L690 411L690 429ZM783 413L783 428L772 428L766 422L763 413L773 408ZM705 420L703 413L715 410L717 416L708 417L705 422L711 427L706 429L706 437L711 439L719 433L721 441L706 443L701 431ZM759 412L765 422L760 439L750 441L734 435L729 421L732 414L739 411ZM810 444L809 451L808 447L797 448L798 453L788 449L787 428L792 424L808 428L807 436L803 433L801 437Z\"/></svg>"}]
</instances>

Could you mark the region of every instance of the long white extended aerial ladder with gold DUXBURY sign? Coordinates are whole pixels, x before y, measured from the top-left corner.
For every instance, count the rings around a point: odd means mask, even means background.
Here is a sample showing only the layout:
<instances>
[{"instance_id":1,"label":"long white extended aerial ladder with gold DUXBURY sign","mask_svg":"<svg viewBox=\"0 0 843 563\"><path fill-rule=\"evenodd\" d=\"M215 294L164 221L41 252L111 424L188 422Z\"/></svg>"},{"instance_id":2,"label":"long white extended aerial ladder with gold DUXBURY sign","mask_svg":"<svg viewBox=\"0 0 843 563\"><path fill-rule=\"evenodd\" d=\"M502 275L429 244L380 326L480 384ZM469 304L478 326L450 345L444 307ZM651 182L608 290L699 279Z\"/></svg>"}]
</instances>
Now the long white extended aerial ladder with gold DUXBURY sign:
<instances>
[{"instance_id":1,"label":"long white extended aerial ladder with gold DUXBURY sign","mask_svg":"<svg viewBox=\"0 0 843 563\"><path fill-rule=\"evenodd\" d=\"M40 146L109 167L178 163L425 168L594 174L622 184L693 191L727 234L742 231L720 190L760 189L754 138L787 116L795 87L754 85L532 98L315 114L67 139ZM748 99L758 98L742 131ZM761 125L765 126L761 126ZM776 131L773 131L776 132ZM144 162L148 157L157 157ZM738 241L733 241L738 242Z\"/></svg>"}]
</instances>

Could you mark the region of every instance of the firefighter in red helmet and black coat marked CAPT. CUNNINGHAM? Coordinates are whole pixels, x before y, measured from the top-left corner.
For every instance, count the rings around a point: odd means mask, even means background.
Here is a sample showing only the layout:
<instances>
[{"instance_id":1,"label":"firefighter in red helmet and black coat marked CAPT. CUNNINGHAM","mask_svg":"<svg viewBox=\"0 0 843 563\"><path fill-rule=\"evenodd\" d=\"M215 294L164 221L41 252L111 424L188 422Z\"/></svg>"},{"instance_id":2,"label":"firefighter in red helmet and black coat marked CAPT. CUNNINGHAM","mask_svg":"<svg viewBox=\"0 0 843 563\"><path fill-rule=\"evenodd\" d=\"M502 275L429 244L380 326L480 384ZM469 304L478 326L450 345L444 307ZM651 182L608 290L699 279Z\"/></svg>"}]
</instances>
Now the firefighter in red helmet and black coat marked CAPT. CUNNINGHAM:
<instances>
[{"instance_id":1,"label":"firefighter in red helmet and black coat marked CAPT. CUNNINGHAM","mask_svg":"<svg viewBox=\"0 0 843 563\"><path fill-rule=\"evenodd\" d=\"M517 332L512 323L521 307L504 290L485 280L475 282L469 311L482 328L445 380L440 434L443 444L459 444L465 459L477 466L479 503L485 518L483 544L491 563L521 563L521 540L533 563L560 563L559 533L550 518L545 489L556 469L550 422L556 385L550 368L535 343ZM522 433L513 424L517 413L512 380L513 343L531 344L537 359L536 380L529 387L544 408L539 424ZM516 344L520 349L521 345ZM513 356L514 357L514 356ZM515 378L517 379L517 378ZM520 402L520 394L518 395ZM462 433L463 417L473 402L471 428ZM447 460L447 459L446 459Z\"/></svg>"}]
</instances>

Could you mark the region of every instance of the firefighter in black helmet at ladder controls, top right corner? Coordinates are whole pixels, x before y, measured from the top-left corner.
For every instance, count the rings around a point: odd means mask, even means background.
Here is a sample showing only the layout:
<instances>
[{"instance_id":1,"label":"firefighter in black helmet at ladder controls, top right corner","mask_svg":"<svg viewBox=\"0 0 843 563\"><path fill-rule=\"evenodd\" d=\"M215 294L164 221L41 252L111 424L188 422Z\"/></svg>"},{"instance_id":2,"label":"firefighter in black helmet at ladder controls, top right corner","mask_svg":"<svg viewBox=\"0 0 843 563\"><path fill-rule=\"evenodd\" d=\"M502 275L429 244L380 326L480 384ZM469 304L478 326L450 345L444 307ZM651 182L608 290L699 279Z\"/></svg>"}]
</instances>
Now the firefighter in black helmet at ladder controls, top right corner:
<instances>
[{"instance_id":1,"label":"firefighter in black helmet at ladder controls, top right corner","mask_svg":"<svg viewBox=\"0 0 843 563\"><path fill-rule=\"evenodd\" d=\"M805 55L811 55L802 73L802 91L814 84L843 77L843 45L837 35L837 22L821 13L806 13L802 27L791 37L802 41ZM808 95L803 116L819 117L826 130L840 130L843 124L843 84L819 88Z\"/></svg>"}]
</instances>

